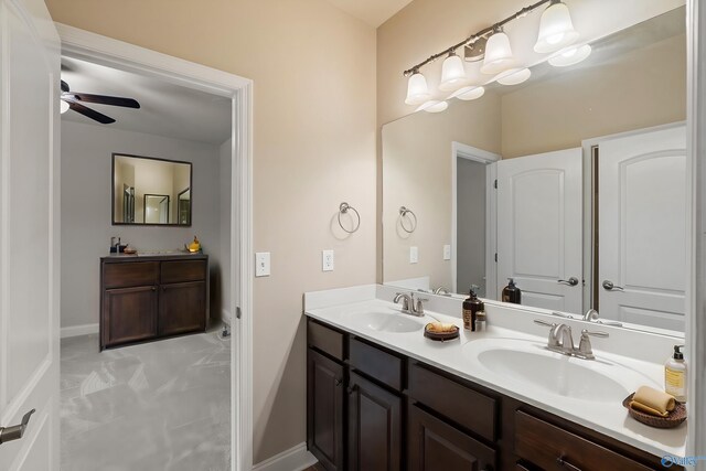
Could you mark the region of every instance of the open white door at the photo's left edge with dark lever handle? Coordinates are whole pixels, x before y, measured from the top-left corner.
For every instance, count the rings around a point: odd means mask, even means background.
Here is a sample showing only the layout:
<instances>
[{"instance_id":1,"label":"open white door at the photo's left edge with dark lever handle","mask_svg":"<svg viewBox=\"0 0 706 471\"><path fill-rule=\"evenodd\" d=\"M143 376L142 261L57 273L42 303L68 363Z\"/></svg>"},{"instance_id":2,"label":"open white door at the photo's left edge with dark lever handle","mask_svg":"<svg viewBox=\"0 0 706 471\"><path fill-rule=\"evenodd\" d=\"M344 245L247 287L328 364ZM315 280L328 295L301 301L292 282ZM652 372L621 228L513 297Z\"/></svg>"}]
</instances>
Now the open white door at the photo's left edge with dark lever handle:
<instances>
[{"instance_id":1,"label":"open white door at the photo's left edge with dark lever handle","mask_svg":"<svg viewBox=\"0 0 706 471\"><path fill-rule=\"evenodd\" d=\"M42 0L0 0L0 426L36 409L0 470L58 470L60 42Z\"/></svg>"}]
</instances>

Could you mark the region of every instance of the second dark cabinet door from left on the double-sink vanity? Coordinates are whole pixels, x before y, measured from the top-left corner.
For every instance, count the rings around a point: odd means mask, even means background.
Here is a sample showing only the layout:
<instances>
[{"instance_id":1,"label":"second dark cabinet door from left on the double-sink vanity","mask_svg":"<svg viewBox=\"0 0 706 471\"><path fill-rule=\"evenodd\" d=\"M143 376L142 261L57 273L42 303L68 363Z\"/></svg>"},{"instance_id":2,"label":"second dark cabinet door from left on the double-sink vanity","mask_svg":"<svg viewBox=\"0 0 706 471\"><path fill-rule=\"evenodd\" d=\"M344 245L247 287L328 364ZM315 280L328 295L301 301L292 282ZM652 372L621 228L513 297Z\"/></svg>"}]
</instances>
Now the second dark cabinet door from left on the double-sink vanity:
<instances>
[{"instance_id":1,"label":"second dark cabinet door from left on the double-sink vanity","mask_svg":"<svg viewBox=\"0 0 706 471\"><path fill-rule=\"evenodd\" d=\"M347 393L349 470L400 470L402 398L355 373Z\"/></svg>"}]
</instances>

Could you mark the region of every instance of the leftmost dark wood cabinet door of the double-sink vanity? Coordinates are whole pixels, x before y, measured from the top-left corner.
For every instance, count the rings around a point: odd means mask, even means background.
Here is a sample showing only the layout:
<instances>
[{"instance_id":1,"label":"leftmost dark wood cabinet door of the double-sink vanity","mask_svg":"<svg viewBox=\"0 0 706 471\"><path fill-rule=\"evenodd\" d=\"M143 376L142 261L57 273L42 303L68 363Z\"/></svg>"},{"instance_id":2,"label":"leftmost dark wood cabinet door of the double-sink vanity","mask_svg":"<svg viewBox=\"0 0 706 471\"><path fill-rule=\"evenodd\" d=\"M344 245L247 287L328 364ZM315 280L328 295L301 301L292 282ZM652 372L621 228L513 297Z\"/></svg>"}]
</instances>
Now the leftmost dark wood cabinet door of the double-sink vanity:
<instances>
[{"instance_id":1,"label":"leftmost dark wood cabinet door of the double-sink vanity","mask_svg":"<svg viewBox=\"0 0 706 471\"><path fill-rule=\"evenodd\" d=\"M307 446L329 471L343 470L343 365L307 350Z\"/></svg>"}]
</instances>

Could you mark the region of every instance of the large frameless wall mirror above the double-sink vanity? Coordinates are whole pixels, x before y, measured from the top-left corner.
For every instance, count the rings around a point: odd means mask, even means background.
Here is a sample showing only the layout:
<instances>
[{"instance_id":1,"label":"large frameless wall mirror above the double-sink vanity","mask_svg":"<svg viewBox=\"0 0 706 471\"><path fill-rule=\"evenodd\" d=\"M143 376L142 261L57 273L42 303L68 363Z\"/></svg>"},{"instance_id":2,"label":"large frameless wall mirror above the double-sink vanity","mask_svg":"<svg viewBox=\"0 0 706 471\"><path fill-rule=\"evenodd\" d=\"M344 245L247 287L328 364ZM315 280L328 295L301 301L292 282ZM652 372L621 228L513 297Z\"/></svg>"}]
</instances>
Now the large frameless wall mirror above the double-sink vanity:
<instances>
[{"instance_id":1,"label":"large frameless wall mirror above the double-sink vanity","mask_svg":"<svg viewBox=\"0 0 706 471\"><path fill-rule=\"evenodd\" d=\"M385 125L383 281L498 300L512 277L526 306L683 332L685 9L666 10Z\"/></svg>"}]
</instances>

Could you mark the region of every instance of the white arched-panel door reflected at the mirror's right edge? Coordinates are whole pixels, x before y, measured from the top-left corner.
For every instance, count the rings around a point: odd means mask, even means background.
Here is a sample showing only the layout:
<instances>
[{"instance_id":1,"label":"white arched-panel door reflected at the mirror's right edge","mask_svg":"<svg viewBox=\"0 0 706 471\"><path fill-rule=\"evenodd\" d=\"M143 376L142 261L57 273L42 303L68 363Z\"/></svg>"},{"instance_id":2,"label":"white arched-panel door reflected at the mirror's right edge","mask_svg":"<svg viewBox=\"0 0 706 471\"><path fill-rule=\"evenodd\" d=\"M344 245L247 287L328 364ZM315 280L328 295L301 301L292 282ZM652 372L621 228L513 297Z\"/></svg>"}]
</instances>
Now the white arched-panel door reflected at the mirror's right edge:
<instances>
[{"instance_id":1,"label":"white arched-panel door reflected at the mirror's right edge","mask_svg":"<svg viewBox=\"0 0 706 471\"><path fill-rule=\"evenodd\" d=\"M598 162L601 317L684 331L684 126L603 141Z\"/></svg>"}]
</instances>

